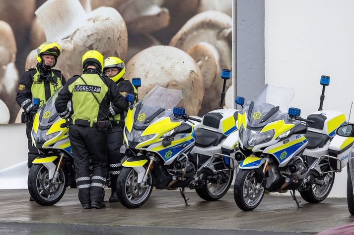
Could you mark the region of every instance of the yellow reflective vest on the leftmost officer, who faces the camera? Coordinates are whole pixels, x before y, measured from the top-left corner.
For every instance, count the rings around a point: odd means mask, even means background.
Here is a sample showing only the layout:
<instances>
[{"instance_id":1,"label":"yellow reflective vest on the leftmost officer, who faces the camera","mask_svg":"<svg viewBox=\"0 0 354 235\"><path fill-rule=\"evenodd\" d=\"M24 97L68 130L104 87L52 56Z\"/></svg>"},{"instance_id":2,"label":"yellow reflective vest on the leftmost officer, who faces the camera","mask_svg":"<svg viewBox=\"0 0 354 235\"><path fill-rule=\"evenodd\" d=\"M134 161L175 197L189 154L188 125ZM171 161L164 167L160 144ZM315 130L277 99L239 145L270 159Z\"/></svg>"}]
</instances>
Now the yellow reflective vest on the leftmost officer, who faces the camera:
<instances>
[{"instance_id":1,"label":"yellow reflective vest on the leftmost officer, who faces the camera","mask_svg":"<svg viewBox=\"0 0 354 235\"><path fill-rule=\"evenodd\" d=\"M33 83L32 83L32 87L31 87L31 94L32 94L32 98L39 98L39 100L41 101L39 106L41 107L46 101L46 92L45 92L45 88L44 88L44 83L45 81L42 80L40 81L40 73L37 69L37 67L35 67L36 69L36 73L33 75ZM52 72L52 78L57 76L54 74L53 70ZM51 90L51 96L62 86L62 80L60 78L57 79L57 83L54 83L53 80L50 81L49 83L49 87Z\"/></svg>"}]
</instances>

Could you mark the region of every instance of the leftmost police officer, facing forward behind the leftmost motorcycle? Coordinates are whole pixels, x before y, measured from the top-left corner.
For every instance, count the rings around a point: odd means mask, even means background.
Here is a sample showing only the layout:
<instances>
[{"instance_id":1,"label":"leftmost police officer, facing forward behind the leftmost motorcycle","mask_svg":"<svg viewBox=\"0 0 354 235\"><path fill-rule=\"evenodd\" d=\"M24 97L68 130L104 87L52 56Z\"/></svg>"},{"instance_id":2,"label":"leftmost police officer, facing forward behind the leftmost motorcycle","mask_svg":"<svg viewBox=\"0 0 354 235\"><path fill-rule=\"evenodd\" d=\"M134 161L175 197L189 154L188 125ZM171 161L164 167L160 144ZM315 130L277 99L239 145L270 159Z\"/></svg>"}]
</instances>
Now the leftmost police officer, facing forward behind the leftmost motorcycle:
<instances>
[{"instance_id":1,"label":"leftmost police officer, facing forward behind the leftmost motorcycle","mask_svg":"<svg viewBox=\"0 0 354 235\"><path fill-rule=\"evenodd\" d=\"M33 115L61 86L65 84L65 78L59 70L53 67L58 61L61 49L57 43L46 42L37 48L37 65L24 72L18 86L16 102L24 110L22 123L26 123L26 135L28 139L28 168L32 161L38 157L36 147L32 145L31 131ZM39 98L40 105L34 106L32 98Z\"/></svg>"}]
</instances>

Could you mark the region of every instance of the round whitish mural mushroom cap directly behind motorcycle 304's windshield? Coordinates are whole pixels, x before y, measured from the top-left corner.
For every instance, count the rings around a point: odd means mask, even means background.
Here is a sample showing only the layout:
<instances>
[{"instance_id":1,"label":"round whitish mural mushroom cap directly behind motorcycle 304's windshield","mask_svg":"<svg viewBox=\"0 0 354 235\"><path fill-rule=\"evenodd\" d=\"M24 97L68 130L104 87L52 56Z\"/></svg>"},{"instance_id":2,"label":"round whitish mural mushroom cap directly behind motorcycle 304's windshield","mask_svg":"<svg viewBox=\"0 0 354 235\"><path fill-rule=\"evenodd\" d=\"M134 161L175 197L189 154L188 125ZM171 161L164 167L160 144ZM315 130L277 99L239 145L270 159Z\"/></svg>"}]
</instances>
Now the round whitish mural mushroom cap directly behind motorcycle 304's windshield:
<instances>
[{"instance_id":1,"label":"round whitish mural mushroom cap directly behind motorcycle 304's windshield","mask_svg":"<svg viewBox=\"0 0 354 235\"><path fill-rule=\"evenodd\" d=\"M142 50L126 65L126 78L140 77L139 97L145 96L156 85L180 89L182 106L189 115L197 115L204 96L202 72L186 52L168 46Z\"/></svg>"}]
</instances>

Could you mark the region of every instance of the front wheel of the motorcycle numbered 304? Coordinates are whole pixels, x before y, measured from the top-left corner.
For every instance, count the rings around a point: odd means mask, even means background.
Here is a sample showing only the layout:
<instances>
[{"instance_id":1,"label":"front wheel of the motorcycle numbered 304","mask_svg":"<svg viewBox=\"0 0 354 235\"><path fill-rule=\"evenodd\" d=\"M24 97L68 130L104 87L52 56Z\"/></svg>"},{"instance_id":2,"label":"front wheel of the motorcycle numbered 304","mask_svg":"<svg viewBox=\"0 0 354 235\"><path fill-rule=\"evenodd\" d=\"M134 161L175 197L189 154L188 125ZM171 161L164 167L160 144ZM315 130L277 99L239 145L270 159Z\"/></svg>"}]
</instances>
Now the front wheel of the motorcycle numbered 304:
<instances>
[{"instance_id":1,"label":"front wheel of the motorcycle numbered 304","mask_svg":"<svg viewBox=\"0 0 354 235\"><path fill-rule=\"evenodd\" d=\"M138 184L138 173L133 168L123 167L117 180L119 202L127 208L138 208L149 198L152 191L152 176L144 185Z\"/></svg>"}]
</instances>

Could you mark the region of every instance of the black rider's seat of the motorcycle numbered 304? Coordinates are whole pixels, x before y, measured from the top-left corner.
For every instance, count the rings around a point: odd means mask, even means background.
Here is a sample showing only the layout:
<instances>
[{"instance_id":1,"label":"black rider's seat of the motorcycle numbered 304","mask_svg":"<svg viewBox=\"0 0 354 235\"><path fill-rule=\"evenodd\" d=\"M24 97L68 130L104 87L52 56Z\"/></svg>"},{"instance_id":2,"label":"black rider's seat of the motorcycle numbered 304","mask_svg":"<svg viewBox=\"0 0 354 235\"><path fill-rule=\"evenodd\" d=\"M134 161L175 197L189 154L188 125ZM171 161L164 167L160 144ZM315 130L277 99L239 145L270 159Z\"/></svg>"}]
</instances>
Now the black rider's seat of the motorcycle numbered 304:
<instances>
[{"instance_id":1,"label":"black rider's seat of the motorcycle numbered 304","mask_svg":"<svg viewBox=\"0 0 354 235\"><path fill-rule=\"evenodd\" d=\"M200 147L216 146L220 141L225 138L224 134L209 131L203 128L195 130L196 145Z\"/></svg>"}]
</instances>

